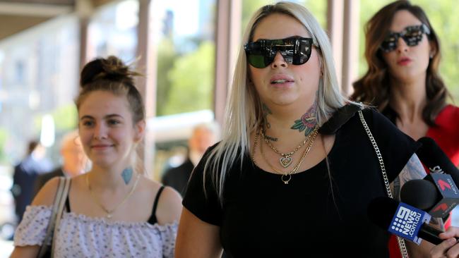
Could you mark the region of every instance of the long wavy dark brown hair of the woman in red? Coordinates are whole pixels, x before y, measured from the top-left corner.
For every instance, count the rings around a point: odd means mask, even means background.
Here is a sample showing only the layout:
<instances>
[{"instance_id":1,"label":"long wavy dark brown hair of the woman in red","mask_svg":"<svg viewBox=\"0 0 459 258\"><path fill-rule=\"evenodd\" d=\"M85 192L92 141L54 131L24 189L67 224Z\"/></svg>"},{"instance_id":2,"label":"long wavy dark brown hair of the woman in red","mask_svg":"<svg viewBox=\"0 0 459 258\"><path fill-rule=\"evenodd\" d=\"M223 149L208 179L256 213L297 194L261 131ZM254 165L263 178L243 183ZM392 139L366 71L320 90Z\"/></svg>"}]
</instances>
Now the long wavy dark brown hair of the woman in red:
<instances>
[{"instance_id":1,"label":"long wavy dark brown hair of the woman in red","mask_svg":"<svg viewBox=\"0 0 459 258\"><path fill-rule=\"evenodd\" d=\"M439 75L440 42L436 36L434 28L431 26L426 13L421 7L410 4L410 1L400 0L388 4L379 10L365 25L365 59L368 63L368 70L365 75L354 82L354 93L351 99L358 102L365 102L377 106L380 111L391 109L388 106L391 80L388 66L383 59L379 46L389 32L393 16L397 11L409 11L427 25L430 30L428 35L429 43L434 48L434 55L429 61L426 76L426 95L427 104L422 111L422 118L427 125L434 126L435 118L446 104L446 97L449 96L448 90ZM398 117L396 111L389 112L388 116L392 121Z\"/></svg>"}]
</instances>

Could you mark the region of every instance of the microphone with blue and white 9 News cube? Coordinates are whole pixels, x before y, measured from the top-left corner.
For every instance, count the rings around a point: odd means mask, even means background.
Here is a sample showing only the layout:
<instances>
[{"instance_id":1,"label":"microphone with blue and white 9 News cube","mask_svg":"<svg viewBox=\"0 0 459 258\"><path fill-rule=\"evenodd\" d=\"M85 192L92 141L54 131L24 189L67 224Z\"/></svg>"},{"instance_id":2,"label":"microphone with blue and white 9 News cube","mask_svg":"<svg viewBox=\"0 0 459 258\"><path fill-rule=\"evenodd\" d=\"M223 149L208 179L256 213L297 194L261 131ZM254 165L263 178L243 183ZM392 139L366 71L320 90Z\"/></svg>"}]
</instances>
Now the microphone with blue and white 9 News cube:
<instances>
[{"instance_id":1,"label":"microphone with blue and white 9 News cube","mask_svg":"<svg viewBox=\"0 0 459 258\"><path fill-rule=\"evenodd\" d=\"M401 238L415 242L422 240L439 245L443 231L429 226L431 216L420 209L389 197L373 199L368 207L368 216L373 223Z\"/></svg>"}]
</instances>

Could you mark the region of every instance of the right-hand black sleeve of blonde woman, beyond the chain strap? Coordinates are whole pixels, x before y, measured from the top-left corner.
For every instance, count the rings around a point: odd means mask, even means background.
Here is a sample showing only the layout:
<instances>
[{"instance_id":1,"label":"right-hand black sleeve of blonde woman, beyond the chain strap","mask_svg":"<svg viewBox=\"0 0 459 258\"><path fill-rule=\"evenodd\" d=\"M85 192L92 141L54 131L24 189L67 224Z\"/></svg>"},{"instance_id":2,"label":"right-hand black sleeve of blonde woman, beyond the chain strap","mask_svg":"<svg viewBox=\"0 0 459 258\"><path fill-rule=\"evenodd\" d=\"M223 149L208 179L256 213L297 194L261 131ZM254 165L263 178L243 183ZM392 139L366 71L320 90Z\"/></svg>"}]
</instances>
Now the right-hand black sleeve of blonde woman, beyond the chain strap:
<instances>
[{"instance_id":1,"label":"right-hand black sleeve of blonde woman, beyond the chain strap","mask_svg":"<svg viewBox=\"0 0 459 258\"><path fill-rule=\"evenodd\" d=\"M392 182L421 144L398 130L388 118L378 111L364 109L363 113L383 156L388 179Z\"/></svg>"}]
</instances>

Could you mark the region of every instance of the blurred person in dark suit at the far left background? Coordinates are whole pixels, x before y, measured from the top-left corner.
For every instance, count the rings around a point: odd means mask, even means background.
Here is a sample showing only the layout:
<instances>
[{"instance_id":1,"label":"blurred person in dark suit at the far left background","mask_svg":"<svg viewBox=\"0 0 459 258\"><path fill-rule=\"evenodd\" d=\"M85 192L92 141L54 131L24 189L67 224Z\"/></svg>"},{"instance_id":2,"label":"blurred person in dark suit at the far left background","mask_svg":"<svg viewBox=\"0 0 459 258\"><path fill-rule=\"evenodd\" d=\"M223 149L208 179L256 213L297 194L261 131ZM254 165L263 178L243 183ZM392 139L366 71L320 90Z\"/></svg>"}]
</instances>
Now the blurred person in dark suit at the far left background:
<instances>
[{"instance_id":1,"label":"blurred person in dark suit at the far left background","mask_svg":"<svg viewBox=\"0 0 459 258\"><path fill-rule=\"evenodd\" d=\"M25 207L32 202L37 176L52 169L52 163L46 157L46 149L37 140L28 143L27 156L14 167L13 193L16 204L16 219L22 221Z\"/></svg>"}]
</instances>

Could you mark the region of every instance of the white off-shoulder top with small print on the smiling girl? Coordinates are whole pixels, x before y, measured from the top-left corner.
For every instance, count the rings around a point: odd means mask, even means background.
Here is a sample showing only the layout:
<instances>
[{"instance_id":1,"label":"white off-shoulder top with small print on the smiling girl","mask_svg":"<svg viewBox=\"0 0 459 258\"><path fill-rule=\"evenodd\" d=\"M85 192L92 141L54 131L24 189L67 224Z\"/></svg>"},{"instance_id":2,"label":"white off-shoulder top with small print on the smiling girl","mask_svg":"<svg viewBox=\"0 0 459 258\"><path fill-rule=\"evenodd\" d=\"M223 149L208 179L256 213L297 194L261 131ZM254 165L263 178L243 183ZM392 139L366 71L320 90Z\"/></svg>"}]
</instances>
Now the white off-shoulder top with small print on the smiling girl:
<instances>
[{"instance_id":1,"label":"white off-shoulder top with small print on the smiling girl","mask_svg":"<svg viewBox=\"0 0 459 258\"><path fill-rule=\"evenodd\" d=\"M15 246L42 245L52 207L28 206L14 235ZM54 257L174 257L178 223L107 221L65 212ZM50 245L50 242L47 243Z\"/></svg>"}]
</instances>

